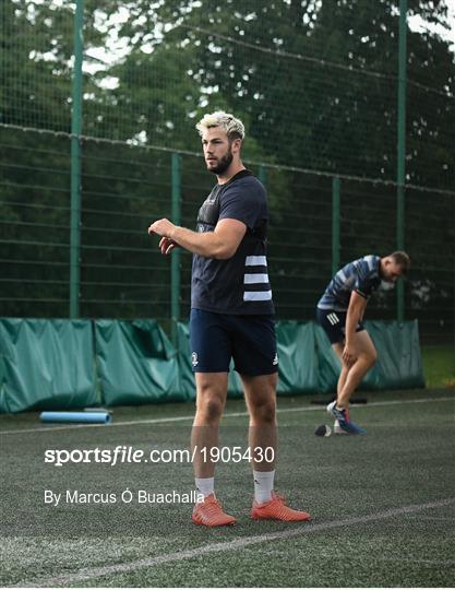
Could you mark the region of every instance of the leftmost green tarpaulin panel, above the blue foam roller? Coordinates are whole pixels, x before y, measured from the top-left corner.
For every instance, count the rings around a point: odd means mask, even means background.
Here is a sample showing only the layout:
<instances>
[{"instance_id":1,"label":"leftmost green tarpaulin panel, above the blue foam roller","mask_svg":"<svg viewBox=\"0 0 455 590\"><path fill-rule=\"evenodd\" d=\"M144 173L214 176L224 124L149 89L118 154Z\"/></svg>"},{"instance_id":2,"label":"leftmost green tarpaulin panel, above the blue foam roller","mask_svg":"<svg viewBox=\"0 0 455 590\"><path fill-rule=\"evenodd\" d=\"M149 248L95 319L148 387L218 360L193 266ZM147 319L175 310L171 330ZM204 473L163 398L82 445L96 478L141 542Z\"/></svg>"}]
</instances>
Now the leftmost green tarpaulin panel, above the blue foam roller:
<instances>
[{"instance_id":1,"label":"leftmost green tarpaulin panel, above the blue foam roller","mask_svg":"<svg viewBox=\"0 0 455 590\"><path fill-rule=\"evenodd\" d=\"M87 320L0 319L0 412L95 405Z\"/></svg>"}]
</instances>

